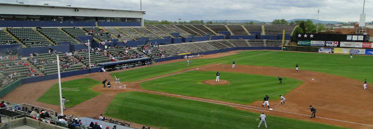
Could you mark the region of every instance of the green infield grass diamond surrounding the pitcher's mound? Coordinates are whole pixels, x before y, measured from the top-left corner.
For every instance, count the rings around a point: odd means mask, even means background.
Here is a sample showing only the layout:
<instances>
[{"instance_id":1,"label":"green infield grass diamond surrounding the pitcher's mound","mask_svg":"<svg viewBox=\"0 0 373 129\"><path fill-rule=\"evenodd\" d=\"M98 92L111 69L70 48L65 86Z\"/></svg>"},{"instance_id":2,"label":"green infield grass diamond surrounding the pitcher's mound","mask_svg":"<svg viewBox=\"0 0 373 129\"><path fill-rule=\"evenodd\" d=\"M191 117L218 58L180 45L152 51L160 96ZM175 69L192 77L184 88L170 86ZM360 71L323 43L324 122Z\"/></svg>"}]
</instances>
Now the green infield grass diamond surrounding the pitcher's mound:
<instances>
[{"instance_id":1,"label":"green infield grass diamond surrounding the pitcher's mound","mask_svg":"<svg viewBox=\"0 0 373 129\"><path fill-rule=\"evenodd\" d=\"M212 100L250 104L263 100L280 99L300 85L302 81L283 78L279 84L277 76L254 75L233 72L220 72L220 79L229 81L226 85L207 85L203 80L215 80L216 71L188 71L140 83L141 88L153 91L195 96Z\"/></svg>"}]
</instances>

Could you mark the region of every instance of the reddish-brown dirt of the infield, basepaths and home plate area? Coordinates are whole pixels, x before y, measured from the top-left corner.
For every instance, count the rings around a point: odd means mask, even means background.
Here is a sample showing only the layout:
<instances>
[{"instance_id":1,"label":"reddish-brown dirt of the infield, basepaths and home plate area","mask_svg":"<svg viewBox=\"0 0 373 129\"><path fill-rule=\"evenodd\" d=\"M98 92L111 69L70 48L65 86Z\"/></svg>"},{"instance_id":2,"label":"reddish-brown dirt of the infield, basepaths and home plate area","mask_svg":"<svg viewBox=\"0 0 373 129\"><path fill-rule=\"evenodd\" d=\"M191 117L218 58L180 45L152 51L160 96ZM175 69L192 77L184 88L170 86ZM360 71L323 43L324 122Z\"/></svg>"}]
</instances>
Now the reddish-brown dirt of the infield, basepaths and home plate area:
<instances>
[{"instance_id":1,"label":"reddish-brown dirt of the infield, basepaths and home plate area","mask_svg":"<svg viewBox=\"0 0 373 129\"><path fill-rule=\"evenodd\" d=\"M227 53L207 55L200 58L217 58L223 56L229 56L236 54L237 51L231 51ZM197 59L197 58L196 58ZM189 59L191 60L191 59ZM168 61L157 63L156 65L186 61L186 59ZM201 66L202 67L202 66ZM141 68L141 67L136 67ZM196 67L194 67L196 68ZM131 68L132 69L132 68ZM187 71L193 68L185 69ZM262 109L263 101L256 101L248 106L257 107L258 109L268 110L270 112L266 113L269 115L281 116L292 119L299 119L304 121L311 121L347 128L354 129L372 129L372 126L359 125L354 123L373 125L373 91L370 90L371 87L368 87L367 90L363 89L363 83L358 80L325 74L314 71L304 71L299 67L299 72L296 72L295 69L288 68L279 68L279 67L268 67L268 66L251 66L251 65L239 65L236 64L235 68L232 68L231 65L214 65L210 67L199 68L200 71L229 71L229 72L239 72L239 73L250 73L250 74L259 74L259 75L270 75L270 76L283 76L291 77L303 81L301 85L290 91L288 94L284 95L286 98L285 105L280 106L280 97L279 96L270 96L271 98L279 98L275 101L270 101L270 107L276 111L270 111L267 108ZM113 72L120 72L113 71ZM62 78L62 81L69 81L78 78L90 77L98 81L102 81L107 78L109 81L114 82L115 80L109 75L112 72L105 73L91 73L86 75L77 75ZM162 75L164 76L164 75ZM155 78L155 77L153 77ZM312 80L311 78L314 78ZM224 78L221 78L224 79ZM284 79L283 82L286 80ZM14 89L1 99L5 101L10 101L14 103L28 103L32 105L37 105L40 107L49 108L55 111L60 111L59 106L46 104L42 102L37 102L36 100L44 94L53 84L57 83L57 79L35 82L30 84L21 85L18 88ZM139 81L137 81L139 82ZM123 83L122 83L123 84ZM136 82L127 82L125 84L130 84L127 86L127 89L116 89L112 88L103 88L102 85L97 85L93 87L93 90L103 92L101 95L98 95L90 100L87 100L83 103L80 103L74 107L68 108L65 114L73 114L74 116L86 116L93 117L99 116L106 109L107 105L110 103L111 99L114 98L118 92L126 91L139 91L147 92L153 94L151 91L142 90L139 83ZM370 84L368 84L369 86ZM281 86L279 84L279 86ZM180 95L173 94L161 94L173 97L179 97ZM263 95L264 97L265 95ZM69 98L67 98L69 99ZM226 102L220 102L215 100L203 99L206 102L214 102L220 104L226 104ZM302 116L298 114L310 115L309 105L312 105L317 109L316 118L310 119L309 116ZM234 107L241 110L247 110L251 112L262 112L258 110L251 110L245 108ZM283 112L281 112L283 111ZM284 113L289 112L289 113ZM293 114L291 114L293 113ZM322 118L329 118L341 121L326 120ZM142 125L131 123L131 127L141 128ZM155 128L152 128L155 129Z\"/></svg>"}]
</instances>

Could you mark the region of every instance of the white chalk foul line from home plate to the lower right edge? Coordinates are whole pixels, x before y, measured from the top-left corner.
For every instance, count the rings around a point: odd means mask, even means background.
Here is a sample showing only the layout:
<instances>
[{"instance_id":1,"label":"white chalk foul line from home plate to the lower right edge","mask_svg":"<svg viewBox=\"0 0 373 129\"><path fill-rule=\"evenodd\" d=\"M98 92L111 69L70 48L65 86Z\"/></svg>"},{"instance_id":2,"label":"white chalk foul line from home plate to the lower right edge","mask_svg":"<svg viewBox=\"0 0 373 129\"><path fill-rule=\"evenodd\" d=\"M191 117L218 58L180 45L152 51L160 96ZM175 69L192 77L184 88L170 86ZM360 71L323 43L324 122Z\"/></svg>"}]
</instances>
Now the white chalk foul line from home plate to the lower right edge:
<instances>
[{"instance_id":1,"label":"white chalk foul line from home plate to the lower right edge","mask_svg":"<svg viewBox=\"0 0 373 129\"><path fill-rule=\"evenodd\" d=\"M226 105L226 106L238 107L238 108L244 108L244 109L250 109L250 110L258 110L258 111L262 111L262 112L270 112L270 111L264 110L265 108L259 108L259 107L248 106L248 105L241 105L241 104L234 104L234 103L221 102L221 101L215 101L215 100L201 99L201 98L188 97L188 96L183 96L183 95L169 94L169 93L150 91L150 90L142 90L142 89L134 89L134 88L127 88L127 89L133 89L133 90L139 90L139 91L145 91L145 92L152 92L152 93L158 93L158 94L166 94L166 95L171 95L171 96L179 96L182 99L188 99L188 100L194 100L194 101L200 101L200 102L207 102L207 103L213 103L213 104L219 104L219 105ZM212 102L210 102L210 101L212 101ZM215 103L215 102L219 102L219 103ZM223 104L223 103L225 103L225 104ZM248 107L250 107L250 108L248 108ZM254 108L257 108L257 109L254 109ZM279 111L279 110L272 110L272 111L294 114L294 115L300 115L300 116L309 116L309 115L292 113L292 112L285 112L285 111ZM317 117L317 118L373 127L373 125L368 125L368 124L354 123L354 122L348 122L348 121L342 121L342 120L336 120L336 119L330 119L330 118L323 118L323 117Z\"/></svg>"}]
</instances>

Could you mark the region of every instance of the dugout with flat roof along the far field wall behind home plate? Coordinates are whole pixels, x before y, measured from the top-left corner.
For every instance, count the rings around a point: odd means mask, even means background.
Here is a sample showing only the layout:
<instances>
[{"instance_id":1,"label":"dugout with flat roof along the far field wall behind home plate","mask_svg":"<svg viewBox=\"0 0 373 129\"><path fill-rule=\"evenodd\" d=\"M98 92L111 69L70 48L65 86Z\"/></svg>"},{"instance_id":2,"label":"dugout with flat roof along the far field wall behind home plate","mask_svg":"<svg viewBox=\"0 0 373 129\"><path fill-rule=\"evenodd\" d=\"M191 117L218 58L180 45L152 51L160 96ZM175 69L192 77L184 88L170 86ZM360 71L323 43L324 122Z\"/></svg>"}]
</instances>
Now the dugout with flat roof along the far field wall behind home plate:
<instances>
[{"instance_id":1,"label":"dugout with flat roof along the far field wall behind home plate","mask_svg":"<svg viewBox=\"0 0 373 129\"><path fill-rule=\"evenodd\" d=\"M115 62L98 63L97 65L105 68L107 71L113 71L113 70L120 70L120 69L126 69L126 68L131 68L131 67L143 66L143 65L152 65L152 59L151 58L136 58L136 59L115 61Z\"/></svg>"}]
</instances>

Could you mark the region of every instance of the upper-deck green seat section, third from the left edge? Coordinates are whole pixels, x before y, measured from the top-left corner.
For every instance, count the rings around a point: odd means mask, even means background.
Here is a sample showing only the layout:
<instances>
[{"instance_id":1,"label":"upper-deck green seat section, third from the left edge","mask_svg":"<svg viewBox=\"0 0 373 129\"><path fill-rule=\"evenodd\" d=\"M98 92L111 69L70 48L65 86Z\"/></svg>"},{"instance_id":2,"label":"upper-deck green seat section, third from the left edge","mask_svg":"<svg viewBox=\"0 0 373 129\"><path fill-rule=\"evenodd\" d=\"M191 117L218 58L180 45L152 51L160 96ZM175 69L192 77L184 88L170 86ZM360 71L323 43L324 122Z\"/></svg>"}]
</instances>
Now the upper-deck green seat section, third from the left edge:
<instances>
[{"instance_id":1,"label":"upper-deck green seat section, third from the left edge","mask_svg":"<svg viewBox=\"0 0 373 129\"><path fill-rule=\"evenodd\" d=\"M71 44L78 44L76 40L74 40L71 36L66 35L58 28L43 28L39 29L39 32L55 44L58 42L70 42Z\"/></svg>"}]
</instances>

